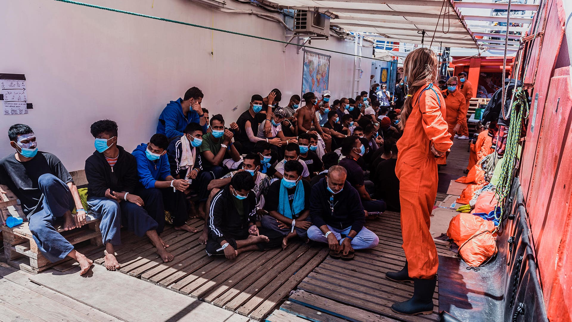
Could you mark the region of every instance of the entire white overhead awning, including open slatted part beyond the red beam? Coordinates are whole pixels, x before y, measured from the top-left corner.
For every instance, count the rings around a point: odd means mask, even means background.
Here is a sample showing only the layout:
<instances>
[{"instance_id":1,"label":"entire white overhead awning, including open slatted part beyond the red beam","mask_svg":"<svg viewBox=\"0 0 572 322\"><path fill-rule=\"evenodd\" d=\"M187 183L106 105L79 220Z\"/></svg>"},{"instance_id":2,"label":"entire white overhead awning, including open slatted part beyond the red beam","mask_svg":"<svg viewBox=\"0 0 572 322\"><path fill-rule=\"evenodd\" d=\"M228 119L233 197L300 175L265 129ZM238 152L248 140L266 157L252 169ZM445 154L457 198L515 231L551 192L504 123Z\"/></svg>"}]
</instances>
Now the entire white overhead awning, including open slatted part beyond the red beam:
<instances>
[{"instance_id":1,"label":"entire white overhead awning, including open slatted part beyond the red beam","mask_svg":"<svg viewBox=\"0 0 572 322\"><path fill-rule=\"evenodd\" d=\"M390 41L452 48L504 48L507 0L260 0L282 9L319 11L331 25ZM495 2L494 2L495 1ZM522 0L513 0L513 2ZM526 0L533 2L535 0ZM538 5L511 4L509 54ZM503 23L504 22L504 23ZM505 26L503 26L503 24Z\"/></svg>"}]
</instances>

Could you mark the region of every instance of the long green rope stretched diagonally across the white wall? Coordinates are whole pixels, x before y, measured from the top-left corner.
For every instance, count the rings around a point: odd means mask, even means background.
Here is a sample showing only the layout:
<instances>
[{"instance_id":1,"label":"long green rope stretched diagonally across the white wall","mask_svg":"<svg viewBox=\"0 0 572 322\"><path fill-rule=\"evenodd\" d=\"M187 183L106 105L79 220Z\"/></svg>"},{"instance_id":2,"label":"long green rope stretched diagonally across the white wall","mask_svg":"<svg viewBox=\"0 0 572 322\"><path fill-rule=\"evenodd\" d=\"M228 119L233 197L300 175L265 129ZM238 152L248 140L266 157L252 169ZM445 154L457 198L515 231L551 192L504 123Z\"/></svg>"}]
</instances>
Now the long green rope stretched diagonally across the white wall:
<instances>
[{"instance_id":1,"label":"long green rope stretched diagonally across the white wall","mask_svg":"<svg viewBox=\"0 0 572 322\"><path fill-rule=\"evenodd\" d=\"M382 60L382 59L374 58L374 57L366 57L366 56L360 56L360 55L356 55L356 54L349 54L349 53L344 53L344 52L338 52L337 50L324 49L324 48L313 47L313 46L308 46L308 45L291 44L291 43L289 43L289 42L287 42L287 41L281 41L281 40L276 40L276 39L271 39L271 38L265 38L265 37L260 37L260 36L254 36L254 35L251 35L251 34L237 33L237 32L232 32L231 30L225 30L225 29L219 29L219 28L213 28L213 27L208 27L208 26L197 25L196 23L189 23L189 22L177 21L177 20L173 20L173 19L155 17L155 16L153 16L153 15L135 13L135 12L131 12L131 11L119 10L119 9L114 9L114 8L110 8L110 7L97 6L97 5L92 5L91 3L79 2L79 1L72 1L72 0L54 0L54 1L65 2L65 3L72 3L73 5L79 5L79 6L85 6L85 7L95 8L95 9L107 10L107 11L112 11L112 12L116 12L116 13L136 15L137 17L142 17L142 18L149 18L149 19L155 19L155 20L160 20L160 21L178 23L179 25L185 25L185 26L191 26L191 27L196 27L196 28L214 30L215 32L236 34L236 35L239 35L239 36L251 37L251 38L256 38L256 39L260 39L260 40L267 40L267 41L272 41L272 42L279 42L280 44L290 44L290 45L295 45L295 46L304 47L304 48L324 50L324 52L330 52L330 53L336 53L336 54L343 54L343 55L347 55L347 56L360 57L360 58L367 58L367 59L371 59L371 60L379 60L379 61L391 62L391 61L389 61L389 60Z\"/></svg>"}]
</instances>

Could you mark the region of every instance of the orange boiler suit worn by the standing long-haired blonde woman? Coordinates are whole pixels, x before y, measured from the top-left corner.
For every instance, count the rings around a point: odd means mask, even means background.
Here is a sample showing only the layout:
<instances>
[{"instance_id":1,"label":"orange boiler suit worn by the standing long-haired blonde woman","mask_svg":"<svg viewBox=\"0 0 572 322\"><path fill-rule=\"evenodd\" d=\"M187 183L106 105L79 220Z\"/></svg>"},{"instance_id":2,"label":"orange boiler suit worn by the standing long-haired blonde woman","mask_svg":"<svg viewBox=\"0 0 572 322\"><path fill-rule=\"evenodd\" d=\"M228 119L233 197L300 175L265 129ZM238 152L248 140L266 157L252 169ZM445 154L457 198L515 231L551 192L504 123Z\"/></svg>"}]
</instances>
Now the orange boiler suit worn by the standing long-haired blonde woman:
<instances>
[{"instance_id":1,"label":"orange boiler suit worn by the standing long-haired blonde woman","mask_svg":"<svg viewBox=\"0 0 572 322\"><path fill-rule=\"evenodd\" d=\"M443 119L446 113L443 96L436 85L436 89L432 86L428 83L411 97L413 108L403 136L397 142L399 155L395 174L402 183L399 200L403 250L411 278L433 278L437 273L439 260L429 227L438 174L430 147L433 144L436 150L447 151L453 144Z\"/></svg>"}]
</instances>

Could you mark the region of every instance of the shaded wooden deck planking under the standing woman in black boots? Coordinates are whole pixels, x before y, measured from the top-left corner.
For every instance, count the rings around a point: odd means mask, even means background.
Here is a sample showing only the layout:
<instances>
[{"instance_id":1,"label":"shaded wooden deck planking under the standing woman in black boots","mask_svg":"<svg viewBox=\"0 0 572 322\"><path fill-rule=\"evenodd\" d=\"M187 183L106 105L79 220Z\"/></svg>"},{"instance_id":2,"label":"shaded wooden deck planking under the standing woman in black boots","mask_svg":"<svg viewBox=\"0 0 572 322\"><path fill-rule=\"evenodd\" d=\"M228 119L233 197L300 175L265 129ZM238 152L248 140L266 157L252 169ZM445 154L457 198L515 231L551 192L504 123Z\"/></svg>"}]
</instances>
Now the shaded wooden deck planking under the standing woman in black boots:
<instances>
[{"instance_id":1,"label":"shaded wooden deck planking under the standing woman in black boots","mask_svg":"<svg viewBox=\"0 0 572 322\"><path fill-rule=\"evenodd\" d=\"M459 178L464 176L467 164L468 140L454 139L447 166L440 167L439 174L442 178ZM438 193L436 203L447 196ZM391 211L376 220L368 220L366 226L378 235L379 245L356 252L353 261L326 258L301 281L280 310L307 321L438 321L439 282L431 315L404 316L391 310L393 303L410 299L413 294L413 284L385 278L386 272L400 270L405 264L400 220L400 214ZM439 256L457 256L449 250L447 242L436 241L435 246ZM275 314L269 321L273 321ZM320 320L320 315L325 318ZM281 321L279 317L276 315L276 321Z\"/></svg>"}]
</instances>

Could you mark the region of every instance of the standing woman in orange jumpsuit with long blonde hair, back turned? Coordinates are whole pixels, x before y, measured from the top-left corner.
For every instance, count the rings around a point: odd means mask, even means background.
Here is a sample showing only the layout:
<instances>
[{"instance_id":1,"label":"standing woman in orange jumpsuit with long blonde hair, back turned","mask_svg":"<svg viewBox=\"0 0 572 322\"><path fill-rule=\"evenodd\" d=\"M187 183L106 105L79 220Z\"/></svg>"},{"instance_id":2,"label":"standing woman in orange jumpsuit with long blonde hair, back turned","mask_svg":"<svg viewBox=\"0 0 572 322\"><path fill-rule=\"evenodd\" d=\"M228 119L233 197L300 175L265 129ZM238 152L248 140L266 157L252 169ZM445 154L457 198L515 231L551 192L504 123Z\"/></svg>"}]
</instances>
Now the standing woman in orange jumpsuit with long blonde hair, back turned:
<instances>
[{"instance_id":1,"label":"standing woman in orange jumpsuit with long blonde hair, back turned","mask_svg":"<svg viewBox=\"0 0 572 322\"><path fill-rule=\"evenodd\" d=\"M407 258L400 272L388 272L394 281L414 282L410 300L395 303L391 309L404 315L433 312L433 292L439 265L437 249L429 231L430 215L437 195L436 157L452 146L445 104L437 85L437 57L428 48L408 54L404 62L408 92L401 112L403 136L397 146L395 173L399 178L403 250Z\"/></svg>"}]
</instances>

